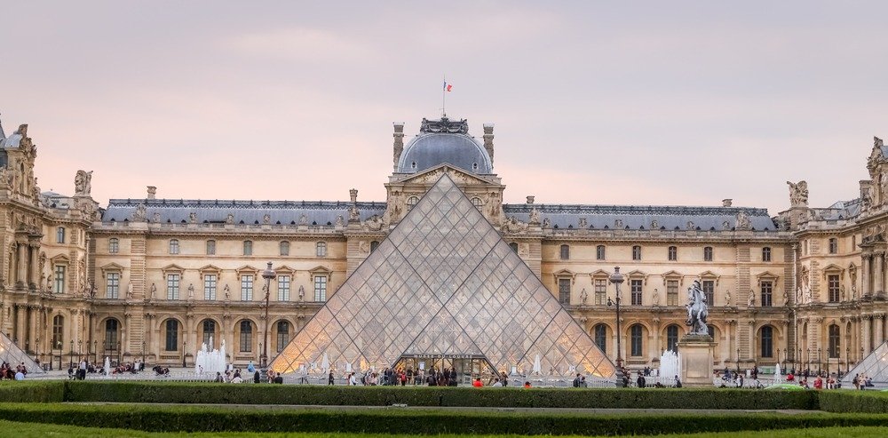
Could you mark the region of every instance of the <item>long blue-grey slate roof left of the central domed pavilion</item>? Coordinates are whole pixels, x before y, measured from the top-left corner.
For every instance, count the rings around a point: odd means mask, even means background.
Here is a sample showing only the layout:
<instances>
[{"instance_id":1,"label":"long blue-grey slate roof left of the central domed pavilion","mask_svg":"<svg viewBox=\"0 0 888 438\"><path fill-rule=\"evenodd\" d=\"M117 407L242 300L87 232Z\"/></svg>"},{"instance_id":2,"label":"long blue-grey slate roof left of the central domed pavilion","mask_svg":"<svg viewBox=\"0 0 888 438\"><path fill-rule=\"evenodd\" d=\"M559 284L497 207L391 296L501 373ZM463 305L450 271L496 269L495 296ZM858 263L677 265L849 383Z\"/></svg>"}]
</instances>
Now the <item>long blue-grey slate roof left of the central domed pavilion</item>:
<instances>
[{"instance_id":1,"label":"long blue-grey slate roof left of the central domed pavilion","mask_svg":"<svg viewBox=\"0 0 888 438\"><path fill-rule=\"evenodd\" d=\"M308 225L333 225L337 216L348 219L352 203L343 201L237 201L201 199L112 199L102 214L103 222L132 220L139 204L145 204L146 217L159 222L190 222L191 213L198 223L225 223L229 213L235 224L262 224L267 214L270 223L281 225L299 224L305 215ZM385 203L359 202L361 220L385 213Z\"/></svg>"}]
</instances>

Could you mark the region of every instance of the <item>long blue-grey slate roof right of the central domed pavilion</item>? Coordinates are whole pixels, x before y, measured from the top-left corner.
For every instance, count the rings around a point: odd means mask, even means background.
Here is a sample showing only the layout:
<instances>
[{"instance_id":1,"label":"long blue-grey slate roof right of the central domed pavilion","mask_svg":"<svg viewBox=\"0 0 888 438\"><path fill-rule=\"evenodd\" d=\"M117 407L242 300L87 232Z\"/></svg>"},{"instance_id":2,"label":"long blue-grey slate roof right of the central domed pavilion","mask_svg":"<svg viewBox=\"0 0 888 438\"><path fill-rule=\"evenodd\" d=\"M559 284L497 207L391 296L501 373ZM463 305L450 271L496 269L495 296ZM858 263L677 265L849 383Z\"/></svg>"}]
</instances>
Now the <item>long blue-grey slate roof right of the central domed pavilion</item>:
<instances>
[{"instance_id":1,"label":"long blue-grey slate roof right of the central domed pavilion","mask_svg":"<svg viewBox=\"0 0 888 438\"><path fill-rule=\"evenodd\" d=\"M686 230L688 222L693 222L694 229L701 230L728 229L737 227L737 215L741 212L749 216L749 223L756 230L775 230L773 220L766 209L748 207L688 207L663 205L580 205L580 204L503 204L506 216L527 222L530 211L536 208L540 220L549 219L551 227L578 228L580 219L585 219L585 227L603 229L614 227L629 229L651 229L656 227L667 230Z\"/></svg>"}]
</instances>

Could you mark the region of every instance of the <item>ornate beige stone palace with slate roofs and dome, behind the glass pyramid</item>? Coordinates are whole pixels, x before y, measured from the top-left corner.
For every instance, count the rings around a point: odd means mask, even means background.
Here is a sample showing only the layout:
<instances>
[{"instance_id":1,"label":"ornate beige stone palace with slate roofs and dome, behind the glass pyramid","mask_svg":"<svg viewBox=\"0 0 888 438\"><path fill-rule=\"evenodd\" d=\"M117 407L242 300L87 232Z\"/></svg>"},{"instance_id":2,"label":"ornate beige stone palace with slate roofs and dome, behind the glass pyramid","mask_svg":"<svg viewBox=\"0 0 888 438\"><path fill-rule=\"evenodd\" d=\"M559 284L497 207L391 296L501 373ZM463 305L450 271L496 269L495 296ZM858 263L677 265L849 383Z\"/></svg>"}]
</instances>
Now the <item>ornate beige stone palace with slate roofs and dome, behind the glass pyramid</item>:
<instances>
[{"instance_id":1,"label":"ornate beige stone palace with slate roofs and dome, behind the glass pyramid","mask_svg":"<svg viewBox=\"0 0 888 438\"><path fill-rule=\"evenodd\" d=\"M789 183L789 209L503 203L493 125L394 123L385 202L91 198L41 192L28 125L0 127L0 330L41 362L110 356L189 366L225 339L229 360L269 362L447 173L611 359L621 267L621 356L657 366L687 327L686 290L710 305L715 366L835 371L885 340L888 148L876 139L860 193L827 208ZM861 154L862 155L862 154ZM100 179L99 179L100 180ZM775 190L780 189L774 187ZM224 195L224 194L219 194ZM593 201L593 200L591 200ZM271 261L276 278L261 276ZM267 324L267 326L266 326Z\"/></svg>"}]
</instances>

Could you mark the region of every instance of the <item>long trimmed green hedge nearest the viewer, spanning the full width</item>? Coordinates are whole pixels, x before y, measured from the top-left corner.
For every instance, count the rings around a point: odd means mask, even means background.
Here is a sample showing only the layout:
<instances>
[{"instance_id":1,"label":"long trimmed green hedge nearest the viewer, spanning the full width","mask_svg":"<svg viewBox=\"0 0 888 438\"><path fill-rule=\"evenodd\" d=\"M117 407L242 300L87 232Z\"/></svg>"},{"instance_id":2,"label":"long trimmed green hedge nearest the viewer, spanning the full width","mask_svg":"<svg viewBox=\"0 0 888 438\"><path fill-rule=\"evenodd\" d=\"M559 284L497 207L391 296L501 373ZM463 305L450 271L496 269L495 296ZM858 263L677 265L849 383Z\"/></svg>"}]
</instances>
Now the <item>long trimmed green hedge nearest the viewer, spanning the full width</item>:
<instances>
[{"instance_id":1,"label":"long trimmed green hedge nearest the viewer, spanning the full width","mask_svg":"<svg viewBox=\"0 0 888 438\"><path fill-rule=\"evenodd\" d=\"M378 434L690 434L830 426L884 426L888 415L710 413L581 415L419 409L292 410L196 406L0 404L0 418L150 432Z\"/></svg>"}]
</instances>

